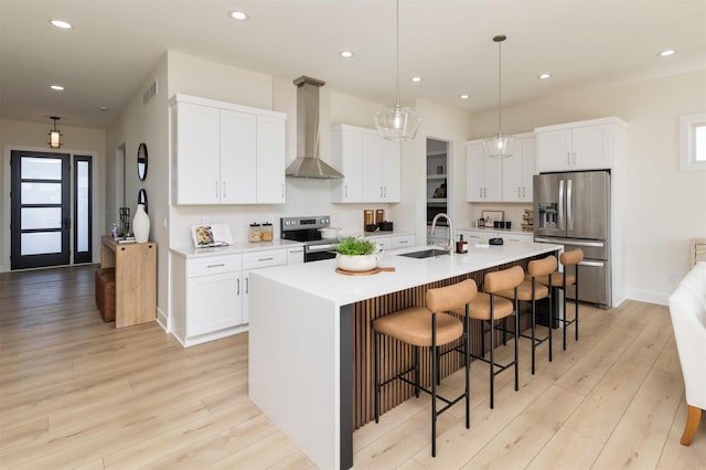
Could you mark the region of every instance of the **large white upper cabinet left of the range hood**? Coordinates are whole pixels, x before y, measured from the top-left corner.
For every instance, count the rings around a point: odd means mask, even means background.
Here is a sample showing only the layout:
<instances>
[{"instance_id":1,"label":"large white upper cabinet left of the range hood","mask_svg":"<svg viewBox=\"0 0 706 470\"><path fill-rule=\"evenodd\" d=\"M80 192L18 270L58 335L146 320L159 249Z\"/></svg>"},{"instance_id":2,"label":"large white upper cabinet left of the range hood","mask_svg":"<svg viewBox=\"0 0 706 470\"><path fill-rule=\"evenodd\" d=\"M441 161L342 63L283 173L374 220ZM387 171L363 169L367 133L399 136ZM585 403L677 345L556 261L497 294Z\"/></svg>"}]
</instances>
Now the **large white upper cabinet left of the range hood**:
<instances>
[{"instance_id":1,"label":"large white upper cabinet left of the range hood","mask_svg":"<svg viewBox=\"0 0 706 470\"><path fill-rule=\"evenodd\" d=\"M284 203L285 121L281 113L175 95L173 203Z\"/></svg>"}]
</instances>

